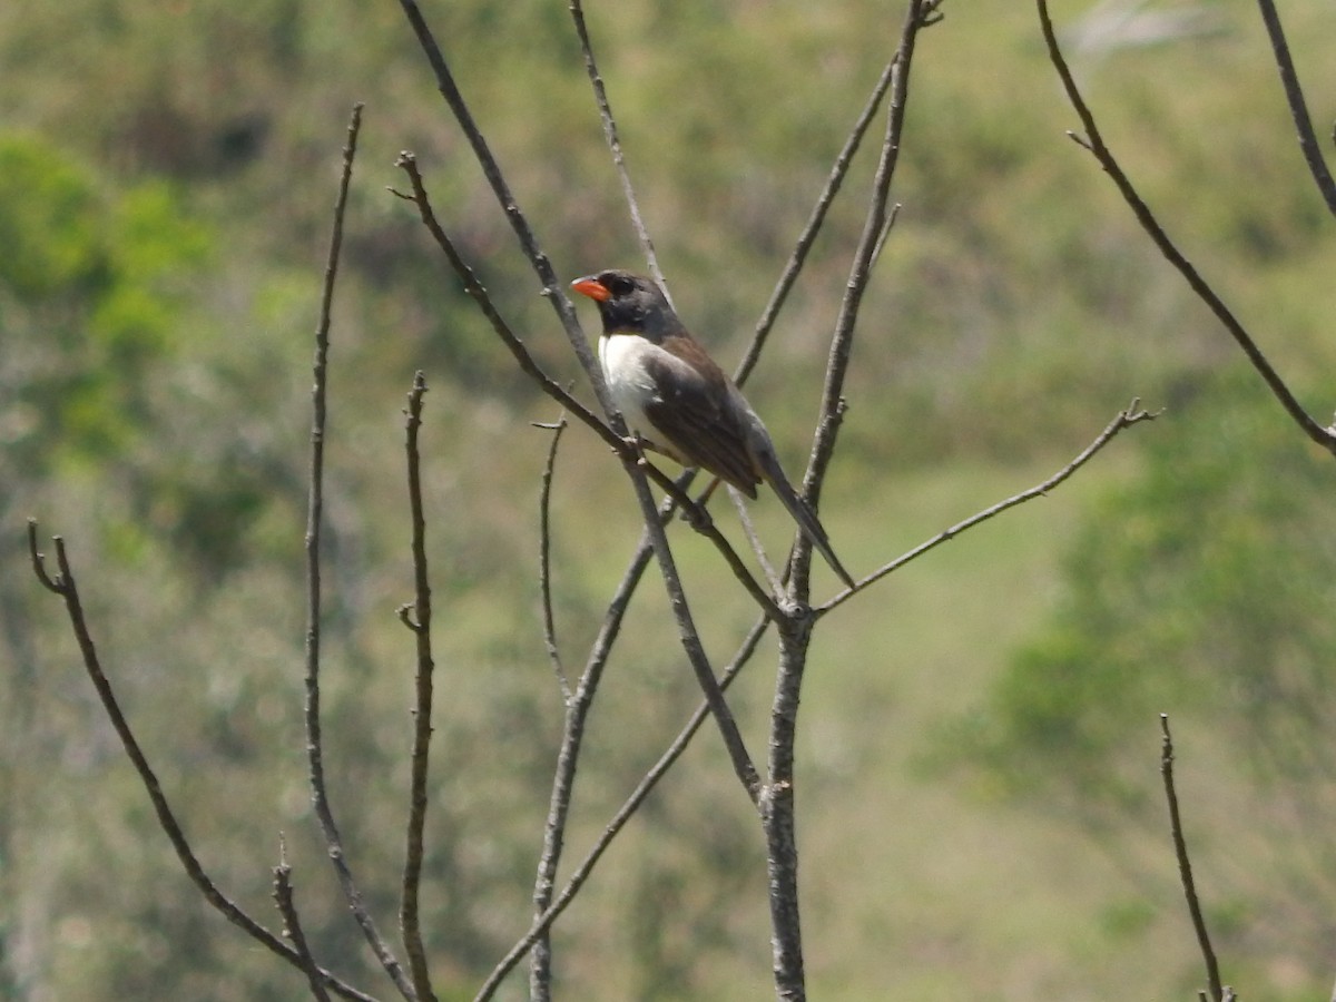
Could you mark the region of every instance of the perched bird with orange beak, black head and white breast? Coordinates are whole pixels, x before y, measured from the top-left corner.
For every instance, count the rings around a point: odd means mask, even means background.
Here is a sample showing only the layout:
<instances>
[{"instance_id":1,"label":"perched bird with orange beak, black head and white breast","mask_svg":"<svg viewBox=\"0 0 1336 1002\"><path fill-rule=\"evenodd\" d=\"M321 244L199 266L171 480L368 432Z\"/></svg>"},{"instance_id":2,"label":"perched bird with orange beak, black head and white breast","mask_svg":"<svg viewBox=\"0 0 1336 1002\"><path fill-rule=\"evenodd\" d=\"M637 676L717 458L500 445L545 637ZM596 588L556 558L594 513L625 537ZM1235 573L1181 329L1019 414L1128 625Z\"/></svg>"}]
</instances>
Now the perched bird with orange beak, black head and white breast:
<instances>
[{"instance_id":1,"label":"perched bird with orange beak, black head and white breast","mask_svg":"<svg viewBox=\"0 0 1336 1002\"><path fill-rule=\"evenodd\" d=\"M754 500L758 485L768 484L816 552L855 588L816 513L779 465L766 425L677 318L659 285L609 269L577 278L570 287L599 307L603 378L641 442L683 466L708 470Z\"/></svg>"}]
</instances>

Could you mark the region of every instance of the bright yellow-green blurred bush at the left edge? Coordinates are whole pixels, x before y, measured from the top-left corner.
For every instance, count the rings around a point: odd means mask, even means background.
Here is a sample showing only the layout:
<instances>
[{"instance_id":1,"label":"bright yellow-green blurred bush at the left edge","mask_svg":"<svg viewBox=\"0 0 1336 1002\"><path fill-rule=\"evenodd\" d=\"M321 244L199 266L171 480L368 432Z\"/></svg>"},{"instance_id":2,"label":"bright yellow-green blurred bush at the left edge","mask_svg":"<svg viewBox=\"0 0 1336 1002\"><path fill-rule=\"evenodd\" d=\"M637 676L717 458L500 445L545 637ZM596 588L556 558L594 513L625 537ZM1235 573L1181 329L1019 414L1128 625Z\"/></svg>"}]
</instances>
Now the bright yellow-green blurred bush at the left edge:
<instances>
[{"instance_id":1,"label":"bright yellow-green blurred bush at the left edge","mask_svg":"<svg viewBox=\"0 0 1336 1002\"><path fill-rule=\"evenodd\" d=\"M0 135L7 480L124 457L210 239L166 182L108 196L49 143Z\"/></svg>"}]
</instances>

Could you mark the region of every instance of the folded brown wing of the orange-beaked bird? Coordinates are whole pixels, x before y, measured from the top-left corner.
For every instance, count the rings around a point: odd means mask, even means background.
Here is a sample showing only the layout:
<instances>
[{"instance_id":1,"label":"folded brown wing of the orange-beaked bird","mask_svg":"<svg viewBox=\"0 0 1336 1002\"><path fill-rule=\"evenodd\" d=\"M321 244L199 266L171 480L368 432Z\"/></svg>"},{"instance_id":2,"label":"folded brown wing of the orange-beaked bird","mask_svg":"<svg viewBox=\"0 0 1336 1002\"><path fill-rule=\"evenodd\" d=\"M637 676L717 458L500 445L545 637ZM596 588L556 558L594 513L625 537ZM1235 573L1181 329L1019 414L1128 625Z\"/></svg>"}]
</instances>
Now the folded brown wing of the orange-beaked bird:
<instances>
[{"instance_id":1,"label":"folded brown wing of the orange-beaked bird","mask_svg":"<svg viewBox=\"0 0 1336 1002\"><path fill-rule=\"evenodd\" d=\"M659 437L689 465L709 470L748 497L760 476L747 448L728 377L688 337L665 338L645 359L657 393L644 405Z\"/></svg>"}]
</instances>

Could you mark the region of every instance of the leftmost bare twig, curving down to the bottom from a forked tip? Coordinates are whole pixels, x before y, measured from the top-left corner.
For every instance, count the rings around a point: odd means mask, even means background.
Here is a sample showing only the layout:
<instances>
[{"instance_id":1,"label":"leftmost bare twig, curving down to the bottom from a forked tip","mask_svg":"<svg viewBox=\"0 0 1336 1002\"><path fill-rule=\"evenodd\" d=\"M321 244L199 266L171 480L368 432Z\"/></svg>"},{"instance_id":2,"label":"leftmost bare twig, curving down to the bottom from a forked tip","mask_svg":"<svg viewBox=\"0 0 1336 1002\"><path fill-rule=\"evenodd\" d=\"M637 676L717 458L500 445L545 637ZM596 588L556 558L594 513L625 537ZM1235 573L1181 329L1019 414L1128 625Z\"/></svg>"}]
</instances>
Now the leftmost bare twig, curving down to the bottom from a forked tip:
<instances>
[{"instance_id":1,"label":"leftmost bare twig, curving down to the bottom from a forked tip","mask_svg":"<svg viewBox=\"0 0 1336 1002\"><path fill-rule=\"evenodd\" d=\"M298 955L297 950L285 943L279 937L274 935L274 933L265 929L265 926L251 918L235 902L223 894L218 884L215 884L204 871L204 867L200 866L199 859L195 856L195 852L186 838L186 832L182 830L180 823L176 820L176 815L171 810L171 804L167 802L166 794L163 794L162 784L158 782L158 775L148 764L148 759L144 755L143 748L140 748L139 740L130 728L130 721L120 709L120 703L116 700L116 693L111 688L111 681L102 669L102 661L98 657L98 647L94 644L92 633L88 631L83 603L79 599L79 588L75 584L73 570L69 568L69 558L65 553L65 542L59 536L53 537L52 541L56 545L57 573L55 576L47 570L45 556L37 549L37 522L32 518L28 520L28 557L32 562L33 573L47 591L55 593L64 601L65 615L69 619L69 627L75 635L75 641L79 644L84 671L88 673L88 679L98 691L98 699L102 701L103 712L107 713L107 719L111 721L112 729L115 729L116 736L120 739L120 744L126 749L126 756L135 767L135 772L139 774L139 780L143 783L150 802L152 802L154 814L158 815L158 824L171 842L172 850L175 850L176 859L180 860L182 868L184 868L191 883L194 883L199 892L204 896L204 900L214 906L214 908L216 908L223 918L271 953L282 957L293 966L305 970L302 958ZM358 991L326 970L321 971L321 977L325 979L325 983L342 998L354 999L354 1002L375 1002L371 995Z\"/></svg>"}]
</instances>

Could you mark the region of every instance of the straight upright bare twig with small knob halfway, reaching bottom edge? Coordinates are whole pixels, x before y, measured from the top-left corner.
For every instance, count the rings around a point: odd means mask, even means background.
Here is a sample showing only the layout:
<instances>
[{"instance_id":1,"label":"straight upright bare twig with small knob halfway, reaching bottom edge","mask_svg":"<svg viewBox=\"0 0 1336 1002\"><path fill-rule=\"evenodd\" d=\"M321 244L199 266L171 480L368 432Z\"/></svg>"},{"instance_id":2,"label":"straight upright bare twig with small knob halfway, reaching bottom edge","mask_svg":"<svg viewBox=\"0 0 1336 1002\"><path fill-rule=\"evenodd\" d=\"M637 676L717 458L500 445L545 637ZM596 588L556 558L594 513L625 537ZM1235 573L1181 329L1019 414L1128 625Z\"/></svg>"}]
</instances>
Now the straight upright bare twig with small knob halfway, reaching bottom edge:
<instances>
[{"instance_id":1,"label":"straight upright bare twig with small knob halfway, reaching bottom edge","mask_svg":"<svg viewBox=\"0 0 1336 1002\"><path fill-rule=\"evenodd\" d=\"M406 414L405 453L409 477L409 509L413 522L413 637L417 647L415 697L413 709L413 756L409 783L407 846L403 856L403 891L399 900L399 930L403 951L409 958L413 990L418 999L434 999L432 971L422 945L422 922L418 891L422 884L422 832L426 827L426 780L432 748L432 580L426 561L426 516L422 508L422 453L418 432L422 428L422 398L426 377L413 377Z\"/></svg>"}]
</instances>

